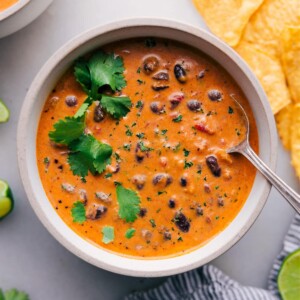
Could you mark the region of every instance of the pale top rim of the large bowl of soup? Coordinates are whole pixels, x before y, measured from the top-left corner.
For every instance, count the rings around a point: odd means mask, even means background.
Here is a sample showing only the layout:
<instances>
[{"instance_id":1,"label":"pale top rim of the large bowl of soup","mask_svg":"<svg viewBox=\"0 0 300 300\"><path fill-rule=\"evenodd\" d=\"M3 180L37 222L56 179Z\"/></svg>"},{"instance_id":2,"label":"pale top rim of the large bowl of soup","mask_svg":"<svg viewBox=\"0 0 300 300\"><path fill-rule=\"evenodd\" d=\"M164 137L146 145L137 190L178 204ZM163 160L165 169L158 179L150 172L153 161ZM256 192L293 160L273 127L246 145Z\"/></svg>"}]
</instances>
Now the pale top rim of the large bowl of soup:
<instances>
[{"instance_id":1,"label":"pale top rim of the large bowl of soup","mask_svg":"<svg viewBox=\"0 0 300 300\"><path fill-rule=\"evenodd\" d=\"M188 254L186 253L184 255L175 256L171 258L158 258L157 262L163 262L163 261L169 261L169 266L166 267L166 264L164 266L160 266L159 268L153 269L150 268L151 261L153 260L141 260L139 258L127 258L119 256L115 253L110 253L112 261L104 260L100 257L92 256L91 253L87 253L83 249L81 249L78 244L75 244L71 242L71 238L69 238L67 235L64 235L61 231L61 228L58 229L58 226L54 226L50 220L49 216L44 213L43 208L41 207L41 204L36 199L34 194L34 189L32 187L32 182L30 180L29 176L29 166L27 165L27 149L25 147L26 144L26 123L28 123L28 119L30 116L30 108L34 104L36 100L36 96L38 95L39 90L42 88L42 83L47 79L47 77L53 72L53 69L57 66L57 64L66 58L67 55L69 55L72 51L76 50L77 48L83 46L85 43L88 43L92 39L99 37L103 34L107 34L109 32L119 30L119 29L128 29L132 27L163 27L163 28L170 28L173 30L178 30L182 32L188 32L191 35L194 35L197 38L202 38L206 42L212 44L214 47L219 49L221 52L225 53L230 59L233 61L234 64L238 66L238 68L246 75L248 78L249 84L252 84L253 87L255 87L255 91L258 94L258 98L261 101L261 105L264 109L265 115L266 115L266 123L268 125L267 130L269 130L269 137L270 137L270 149L269 149L269 162L268 165L271 169L275 169L276 165L276 157L277 157L277 134L276 134L276 127L274 122L274 117L270 108L270 105L267 101L266 95L258 82L255 75L250 71L247 64L243 61L243 59L236 53L234 50L232 50L228 45L226 45L223 41L215 37L213 34L209 33L205 29L199 29L191 24L184 23L184 22L178 22L176 20L172 19L166 19L166 18L129 18L129 19L123 19L120 21L114 21L105 25L99 25L92 29L89 29L87 31L84 31L83 33L75 36L72 38L69 42L67 42L65 45L63 45L59 50L57 50L44 64L44 66L41 68L41 70L36 75L35 79L33 80L27 95L25 97L25 100L23 102L23 106L21 109L19 122L18 122L18 132L17 132L17 155L18 155L18 165L19 165L19 171L21 175L21 180L26 192L26 195L29 199L29 202L35 211L36 215L38 216L39 220L43 223L43 225L47 228L47 230L52 234L53 237L55 237L56 240L58 240L65 248L67 248L70 252L77 255L81 259L85 260L86 262L89 262L97 267L100 267L102 269L123 274L123 275L129 275L129 276L141 276L141 277L159 277L159 276L167 276L167 275L173 275L182 273L188 270L191 270L193 268L199 267L201 265L206 264L207 262L213 260L214 258L218 257L219 255L226 252L228 249L230 249L253 225L256 218L259 216L261 210L263 209L267 197L271 190L271 185L265 181L263 183L263 190L261 192L261 201L256 205L253 213L249 217L246 224L244 224L242 227L239 228L239 233L235 236L232 236L229 241L226 242L226 244L222 245L218 248L218 250L214 251L213 253L208 254L204 258L199 258L196 261L189 261L186 259L186 262L181 263L181 265L174 266L176 264L176 261L179 260L180 257L188 257ZM42 80L40 80L42 78ZM49 201L47 199L47 201ZM55 212L56 213L56 212ZM232 221L233 222L233 221ZM66 225L67 226L67 225ZM228 225L229 226L229 225ZM69 228L70 229L70 228ZM70 231L73 232L72 229ZM71 234L71 232L70 232ZM222 232L220 233L220 235ZM77 234L76 234L77 235ZM79 237L79 236L78 236ZM83 239L79 237L80 239ZM88 241L86 243L92 245ZM93 247L96 247L92 245ZM103 248L97 247L99 252L102 252L102 254L109 253L107 250ZM197 250L194 250L192 252L195 252ZM108 254L107 254L108 255ZM113 261L113 258L115 258L118 263ZM117 259L118 258L118 259ZM128 264L128 261L130 261L130 266ZM124 265L122 263L120 264L120 261L124 262ZM126 261L126 263L125 263ZM138 263L138 262L144 262L144 263ZM141 265L143 267L141 268ZM149 266L149 269L144 269Z\"/></svg>"}]
</instances>

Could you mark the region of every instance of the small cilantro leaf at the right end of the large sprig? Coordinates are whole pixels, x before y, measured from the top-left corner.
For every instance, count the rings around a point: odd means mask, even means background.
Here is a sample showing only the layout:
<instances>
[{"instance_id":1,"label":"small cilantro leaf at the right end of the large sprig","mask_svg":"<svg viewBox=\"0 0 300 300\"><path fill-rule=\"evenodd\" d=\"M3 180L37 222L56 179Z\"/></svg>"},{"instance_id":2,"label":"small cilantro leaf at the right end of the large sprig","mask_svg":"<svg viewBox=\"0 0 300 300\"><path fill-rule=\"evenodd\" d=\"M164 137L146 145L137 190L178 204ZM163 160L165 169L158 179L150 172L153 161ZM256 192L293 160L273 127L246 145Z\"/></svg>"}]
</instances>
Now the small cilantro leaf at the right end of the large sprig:
<instances>
[{"instance_id":1,"label":"small cilantro leaf at the right end of the large sprig","mask_svg":"<svg viewBox=\"0 0 300 300\"><path fill-rule=\"evenodd\" d=\"M131 108L131 100L128 97L113 97L102 95L100 100L104 109L115 119L125 117Z\"/></svg>"}]
</instances>

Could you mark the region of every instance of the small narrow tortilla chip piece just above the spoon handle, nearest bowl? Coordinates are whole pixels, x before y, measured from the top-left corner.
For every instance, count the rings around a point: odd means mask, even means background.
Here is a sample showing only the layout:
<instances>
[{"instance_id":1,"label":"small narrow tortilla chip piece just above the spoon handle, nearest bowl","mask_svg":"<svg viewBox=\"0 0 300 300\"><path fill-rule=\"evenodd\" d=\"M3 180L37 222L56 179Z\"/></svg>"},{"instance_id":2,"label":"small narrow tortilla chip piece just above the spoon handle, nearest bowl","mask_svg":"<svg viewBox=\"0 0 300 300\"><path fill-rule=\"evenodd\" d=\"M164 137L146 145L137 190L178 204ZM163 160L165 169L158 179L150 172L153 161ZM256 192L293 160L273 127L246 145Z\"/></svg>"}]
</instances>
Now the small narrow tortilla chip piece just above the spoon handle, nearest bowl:
<instances>
[{"instance_id":1,"label":"small narrow tortilla chip piece just above the spoon handle, nearest bowl","mask_svg":"<svg viewBox=\"0 0 300 300\"><path fill-rule=\"evenodd\" d=\"M293 104L289 104L275 116L278 134L287 150L291 150L292 110Z\"/></svg>"}]
</instances>

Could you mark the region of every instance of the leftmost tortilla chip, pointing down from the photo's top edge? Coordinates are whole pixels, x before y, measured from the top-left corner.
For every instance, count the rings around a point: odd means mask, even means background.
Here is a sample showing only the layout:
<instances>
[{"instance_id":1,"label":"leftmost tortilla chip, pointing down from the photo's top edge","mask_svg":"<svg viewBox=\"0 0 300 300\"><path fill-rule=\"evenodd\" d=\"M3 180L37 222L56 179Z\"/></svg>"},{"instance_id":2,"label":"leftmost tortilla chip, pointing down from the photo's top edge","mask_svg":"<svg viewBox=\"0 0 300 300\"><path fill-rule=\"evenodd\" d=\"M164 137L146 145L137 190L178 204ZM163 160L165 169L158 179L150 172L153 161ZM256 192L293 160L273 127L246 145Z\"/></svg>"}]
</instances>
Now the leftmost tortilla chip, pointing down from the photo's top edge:
<instances>
[{"instance_id":1,"label":"leftmost tortilla chip, pointing down from the photo's top edge","mask_svg":"<svg viewBox=\"0 0 300 300\"><path fill-rule=\"evenodd\" d=\"M193 0L211 31L236 46L252 14L263 0Z\"/></svg>"}]
</instances>

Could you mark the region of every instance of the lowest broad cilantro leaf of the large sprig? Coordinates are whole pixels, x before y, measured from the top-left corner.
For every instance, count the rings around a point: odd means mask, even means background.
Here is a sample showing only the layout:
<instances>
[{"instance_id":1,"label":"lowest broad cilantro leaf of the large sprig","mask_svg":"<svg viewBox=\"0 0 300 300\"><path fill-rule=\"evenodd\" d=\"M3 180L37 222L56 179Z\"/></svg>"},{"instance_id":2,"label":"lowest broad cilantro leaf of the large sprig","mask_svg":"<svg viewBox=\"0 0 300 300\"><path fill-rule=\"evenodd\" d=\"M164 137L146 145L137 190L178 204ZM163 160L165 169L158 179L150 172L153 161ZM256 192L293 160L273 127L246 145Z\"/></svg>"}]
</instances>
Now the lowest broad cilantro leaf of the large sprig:
<instances>
[{"instance_id":1,"label":"lowest broad cilantro leaf of the large sprig","mask_svg":"<svg viewBox=\"0 0 300 300\"><path fill-rule=\"evenodd\" d=\"M101 143L92 135L82 135L69 148L73 153L69 155L68 162L74 175L85 177L88 171L93 175L100 174L111 162L111 146Z\"/></svg>"}]
</instances>

